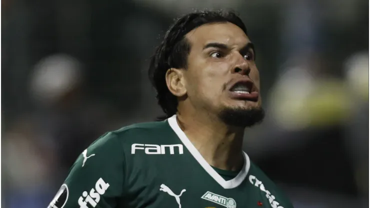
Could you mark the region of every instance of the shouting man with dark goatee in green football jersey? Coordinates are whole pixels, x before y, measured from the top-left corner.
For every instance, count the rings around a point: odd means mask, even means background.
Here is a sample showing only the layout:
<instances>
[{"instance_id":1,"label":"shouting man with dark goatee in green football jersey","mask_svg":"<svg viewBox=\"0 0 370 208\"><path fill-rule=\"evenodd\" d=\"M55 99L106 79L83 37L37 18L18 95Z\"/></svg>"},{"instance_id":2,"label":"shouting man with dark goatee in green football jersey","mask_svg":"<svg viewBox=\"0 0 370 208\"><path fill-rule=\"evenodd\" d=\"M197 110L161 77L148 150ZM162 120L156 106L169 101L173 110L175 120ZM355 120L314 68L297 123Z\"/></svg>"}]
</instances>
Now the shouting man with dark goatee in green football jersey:
<instances>
[{"instance_id":1,"label":"shouting man with dark goatee in green football jersey","mask_svg":"<svg viewBox=\"0 0 370 208\"><path fill-rule=\"evenodd\" d=\"M149 67L164 120L98 138L49 207L292 207L241 149L264 114L254 60L233 12L179 18Z\"/></svg>"}]
</instances>

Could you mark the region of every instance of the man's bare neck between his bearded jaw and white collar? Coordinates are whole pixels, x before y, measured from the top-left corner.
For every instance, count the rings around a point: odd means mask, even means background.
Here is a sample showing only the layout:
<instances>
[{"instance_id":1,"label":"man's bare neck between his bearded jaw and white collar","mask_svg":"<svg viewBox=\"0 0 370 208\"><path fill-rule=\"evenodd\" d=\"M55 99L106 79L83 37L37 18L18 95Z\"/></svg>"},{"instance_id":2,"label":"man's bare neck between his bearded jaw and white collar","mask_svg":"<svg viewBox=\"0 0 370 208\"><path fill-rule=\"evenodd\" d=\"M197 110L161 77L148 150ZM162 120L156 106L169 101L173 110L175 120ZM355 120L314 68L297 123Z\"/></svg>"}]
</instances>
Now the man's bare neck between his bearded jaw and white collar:
<instances>
[{"instance_id":1,"label":"man's bare neck between his bearded jaw and white collar","mask_svg":"<svg viewBox=\"0 0 370 208\"><path fill-rule=\"evenodd\" d=\"M208 113L177 113L177 123L208 164L225 170L241 169L244 128L228 126Z\"/></svg>"}]
</instances>

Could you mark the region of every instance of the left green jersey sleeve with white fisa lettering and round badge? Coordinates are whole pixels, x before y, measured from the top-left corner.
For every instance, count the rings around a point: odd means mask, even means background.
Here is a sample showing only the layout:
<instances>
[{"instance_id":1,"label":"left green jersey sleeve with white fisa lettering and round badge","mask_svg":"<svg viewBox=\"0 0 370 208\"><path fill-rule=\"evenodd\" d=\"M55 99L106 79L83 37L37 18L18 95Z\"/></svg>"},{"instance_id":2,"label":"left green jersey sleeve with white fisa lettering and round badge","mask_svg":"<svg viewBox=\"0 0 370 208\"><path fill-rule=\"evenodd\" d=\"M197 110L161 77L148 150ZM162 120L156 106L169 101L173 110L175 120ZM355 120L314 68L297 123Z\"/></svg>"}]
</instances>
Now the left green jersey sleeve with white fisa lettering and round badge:
<instances>
[{"instance_id":1,"label":"left green jersey sleeve with white fisa lettering and round badge","mask_svg":"<svg viewBox=\"0 0 370 208\"><path fill-rule=\"evenodd\" d=\"M106 133L78 156L48 208L116 207L124 171L120 141L115 133Z\"/></svg>"}]
</instances>

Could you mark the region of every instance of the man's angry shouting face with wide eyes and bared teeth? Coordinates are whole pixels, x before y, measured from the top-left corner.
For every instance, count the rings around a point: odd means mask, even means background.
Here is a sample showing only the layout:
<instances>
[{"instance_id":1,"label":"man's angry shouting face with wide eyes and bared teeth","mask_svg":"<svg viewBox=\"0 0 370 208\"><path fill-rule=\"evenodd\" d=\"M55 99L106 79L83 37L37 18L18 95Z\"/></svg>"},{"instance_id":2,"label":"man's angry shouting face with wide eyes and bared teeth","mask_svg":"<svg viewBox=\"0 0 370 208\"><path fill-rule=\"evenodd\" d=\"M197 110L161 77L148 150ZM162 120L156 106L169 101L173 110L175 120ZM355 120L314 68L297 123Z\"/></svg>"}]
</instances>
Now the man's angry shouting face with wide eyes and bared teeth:
<instances>
[{"instance_id":1,"label":"man's angry shouting face with wide eyes and bared teeth","mask_svg":"<svg viewBox=\"0 0 370 208\"><path fill-rule=\"evenodd\" d=\"M193 106L221 117L233 114L233 119L261 110L254 49L242 29L229 22L204 24L187 33L186 38L191 49L184 78ZM254 118L248 119L251 122ZM241 121L240 125L257 121Z\"/></svg>"}]
</instances>

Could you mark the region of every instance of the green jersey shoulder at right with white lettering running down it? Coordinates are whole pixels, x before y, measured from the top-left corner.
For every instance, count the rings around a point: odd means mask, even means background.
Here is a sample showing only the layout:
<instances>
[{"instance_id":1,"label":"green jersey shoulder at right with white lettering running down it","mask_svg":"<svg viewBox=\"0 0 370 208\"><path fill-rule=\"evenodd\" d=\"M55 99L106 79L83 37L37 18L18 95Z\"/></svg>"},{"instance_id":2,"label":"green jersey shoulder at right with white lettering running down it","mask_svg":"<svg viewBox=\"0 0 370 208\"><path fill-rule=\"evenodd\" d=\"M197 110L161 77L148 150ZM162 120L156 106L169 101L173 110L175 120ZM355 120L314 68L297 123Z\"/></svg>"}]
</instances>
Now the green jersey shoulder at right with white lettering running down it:
<instances>
[{"instance_id":1,"label":"green jersey shoulder at right with white lettering running down it","mask_svg":"<svg viewBox=\"0 0 370 208\"><path fill-rule=\"evenodd\" d=\"M250 162L249 182L266 193L272 207L292 208L292 204L284 193L257 165Z\"/></svg>"}]
</instances>

